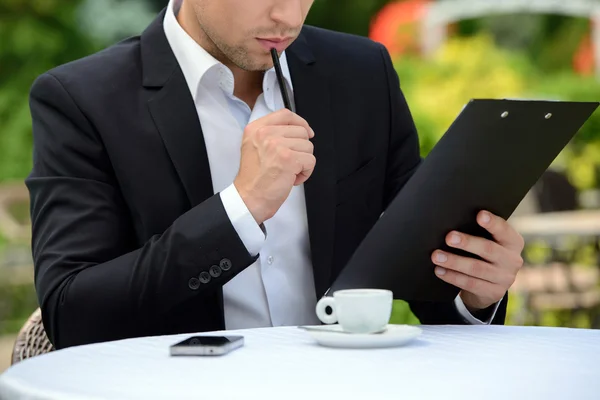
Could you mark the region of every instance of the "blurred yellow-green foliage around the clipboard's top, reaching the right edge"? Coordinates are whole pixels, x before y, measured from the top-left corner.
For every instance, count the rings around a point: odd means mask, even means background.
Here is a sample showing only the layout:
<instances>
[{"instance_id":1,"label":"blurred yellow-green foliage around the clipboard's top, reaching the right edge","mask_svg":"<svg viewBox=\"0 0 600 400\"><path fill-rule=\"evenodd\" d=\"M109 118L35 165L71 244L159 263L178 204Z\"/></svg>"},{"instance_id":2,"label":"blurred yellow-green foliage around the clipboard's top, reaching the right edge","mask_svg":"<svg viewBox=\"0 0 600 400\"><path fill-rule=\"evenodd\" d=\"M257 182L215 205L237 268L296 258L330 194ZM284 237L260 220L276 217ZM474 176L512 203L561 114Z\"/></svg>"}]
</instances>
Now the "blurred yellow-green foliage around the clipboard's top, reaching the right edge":
<instances>
[{"instance_id":1,"label":"blurred yellow-green foliage around the clipboard's top, reaching the right edge","mask_svg":"<svg viewBox=\"0 0 600 400\"><path fill-rule=\"evenodd\" d=\"M395 62L426 156L462 107L473 98L530 98L598 101L600 81L569 70L544 72L522 52L496 45L480 33L451 38L431 60L400 57ZM600 111L559 155L580 190L600 186Z\"/></svg>"}]
</instances>

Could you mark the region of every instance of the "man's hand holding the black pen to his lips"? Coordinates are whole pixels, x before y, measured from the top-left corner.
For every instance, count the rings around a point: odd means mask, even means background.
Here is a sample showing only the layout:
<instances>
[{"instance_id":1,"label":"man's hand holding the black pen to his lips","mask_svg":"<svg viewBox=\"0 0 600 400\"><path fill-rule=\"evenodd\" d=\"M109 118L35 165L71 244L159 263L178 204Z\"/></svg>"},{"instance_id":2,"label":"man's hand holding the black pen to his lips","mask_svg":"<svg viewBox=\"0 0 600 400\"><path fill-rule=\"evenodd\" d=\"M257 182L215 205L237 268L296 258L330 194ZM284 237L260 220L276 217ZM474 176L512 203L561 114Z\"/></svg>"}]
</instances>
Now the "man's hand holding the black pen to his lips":
<instances>
[{"instance_id":1,"label":"man's hand holding the black pen to his lips","mask_svg":"<svg viewBox=\"0 0 600 400\"><path fill-rule=\"evenodd\" d=\"M234 185L257 223L273 217L294 185L312 174L315 133L299 115L282 109L244 129L240 170Z\"/></svg>"}]
</instances>

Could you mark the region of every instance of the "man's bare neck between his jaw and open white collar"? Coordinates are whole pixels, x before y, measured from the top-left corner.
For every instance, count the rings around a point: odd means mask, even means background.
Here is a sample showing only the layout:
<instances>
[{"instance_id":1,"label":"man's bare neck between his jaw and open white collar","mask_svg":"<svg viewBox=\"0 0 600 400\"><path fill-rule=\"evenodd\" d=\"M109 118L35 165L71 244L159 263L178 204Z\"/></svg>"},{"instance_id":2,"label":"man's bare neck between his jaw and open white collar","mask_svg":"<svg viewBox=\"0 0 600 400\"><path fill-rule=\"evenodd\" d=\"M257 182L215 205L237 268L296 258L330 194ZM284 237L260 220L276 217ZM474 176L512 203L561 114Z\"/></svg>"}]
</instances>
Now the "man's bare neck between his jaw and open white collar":
<instances>
[{"instance_id":1,"label":"man's bare neck between his jaw and open white collar","mask_svg":"<svg viewBox=\"0 0 600 400\"><path fill-rule=\"evenodd\" d=\"M198 20L191 7L191 3L184 1L177 15L177 21L196 43L231 70L235 82L234 96L244 101L250 108L254 108L256 98L262 93L264 72L246 71L232 63L206 36L206 33L198 25Z\"/></svg>"}]
</instances>

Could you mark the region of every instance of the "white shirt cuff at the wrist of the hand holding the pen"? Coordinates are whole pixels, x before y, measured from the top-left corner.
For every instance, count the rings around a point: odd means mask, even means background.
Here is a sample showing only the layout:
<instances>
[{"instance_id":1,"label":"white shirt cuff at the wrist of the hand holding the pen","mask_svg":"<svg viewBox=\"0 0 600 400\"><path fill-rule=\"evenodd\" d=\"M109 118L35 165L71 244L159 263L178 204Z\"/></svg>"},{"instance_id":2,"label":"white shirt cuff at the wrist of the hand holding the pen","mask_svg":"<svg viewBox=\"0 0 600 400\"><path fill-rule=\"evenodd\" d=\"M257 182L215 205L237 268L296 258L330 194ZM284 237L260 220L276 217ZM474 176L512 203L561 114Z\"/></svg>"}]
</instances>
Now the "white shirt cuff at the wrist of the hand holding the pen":
<instances>
[{"instance_id":1,"label":"white shirt cuff at the wrist of the hand holding the pen","mask_svg":"<svg viewBox=\"0 0 600 400\"><path fill-rule=\"evenodd\" d=\"M246 250L252 257L256 256L265 242L265 231L256 223L233 183L220 196L225 212Z\"/></svg>"}]
</instances>

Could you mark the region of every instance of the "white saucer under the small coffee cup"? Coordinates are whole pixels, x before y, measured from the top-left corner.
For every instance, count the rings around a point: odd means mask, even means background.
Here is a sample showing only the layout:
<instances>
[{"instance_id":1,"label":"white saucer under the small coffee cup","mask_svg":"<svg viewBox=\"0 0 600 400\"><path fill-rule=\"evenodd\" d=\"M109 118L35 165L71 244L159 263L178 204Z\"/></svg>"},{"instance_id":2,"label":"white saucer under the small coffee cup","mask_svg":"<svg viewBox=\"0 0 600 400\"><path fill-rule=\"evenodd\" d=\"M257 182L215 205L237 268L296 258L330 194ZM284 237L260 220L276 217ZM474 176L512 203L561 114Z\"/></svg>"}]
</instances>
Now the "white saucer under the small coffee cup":
<instances>
[{"instance_id":1,"label":"white saucer under the small coffee cup","mask_svg":"<svg viewBox=\"0 0 600 400\"><path fill-rule=\"evenodd\" d=\"M388 325L382 333L347 333L340 325L307 327L306 332L321 346L347 349L397 347L409 343L423 331L412 325ZM310 329L315 328L315 329Z\"/></svg>"}]
</instances>

